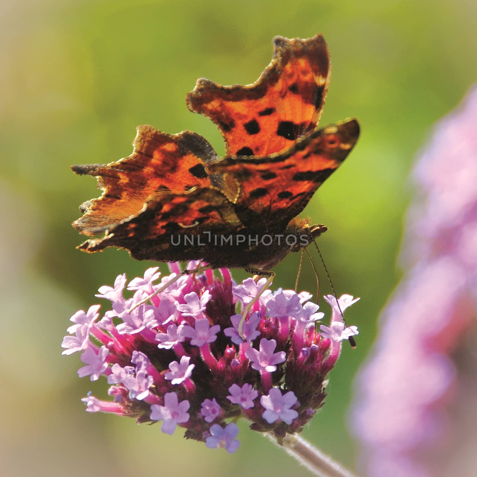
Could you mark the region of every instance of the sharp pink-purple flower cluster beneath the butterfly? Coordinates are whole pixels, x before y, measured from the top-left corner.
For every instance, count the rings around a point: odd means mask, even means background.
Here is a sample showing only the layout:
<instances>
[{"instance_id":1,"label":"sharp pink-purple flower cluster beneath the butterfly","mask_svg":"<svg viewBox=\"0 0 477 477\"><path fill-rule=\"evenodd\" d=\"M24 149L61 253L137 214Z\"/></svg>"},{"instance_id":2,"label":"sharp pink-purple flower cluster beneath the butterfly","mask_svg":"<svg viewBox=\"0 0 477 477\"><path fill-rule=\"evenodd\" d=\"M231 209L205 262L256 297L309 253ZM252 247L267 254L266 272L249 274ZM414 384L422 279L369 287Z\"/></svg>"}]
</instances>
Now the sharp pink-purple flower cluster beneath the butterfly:
<instances>
[{"instance_id":1,"label":"sharp pink-purple flower cluster beneath the butterfly","mask_svg":"<svg viewBox=\"0 0 477 477\"><path fill-rule=\"evenodd\" d=\"M130 416L139 423L162 421L172 434L179 425L187 438L234 452L245 417L251 428L276 437L300 432L322 405L325 378L336 363L341 341L357 334L345 328L341 311L354 303L343 295L325 299L330 326L317 326L324 314L307 292L266 290L252 306L241 332L240 310L263 288L265 279L235 284L229 270L222 280L212 270L182 275L147 304L131 310L180 273L171 264L162 277L157 267L127 284L119 275L96 297L111 302L71 317L63 354L82 352L80 377L106 377L112 401L88 395L88 412ZM191 270L191 268L190 268ZM131 297L125 298L125 289ZM98 320L99 319L99 320Z\"/></svg>"}]
</instances>

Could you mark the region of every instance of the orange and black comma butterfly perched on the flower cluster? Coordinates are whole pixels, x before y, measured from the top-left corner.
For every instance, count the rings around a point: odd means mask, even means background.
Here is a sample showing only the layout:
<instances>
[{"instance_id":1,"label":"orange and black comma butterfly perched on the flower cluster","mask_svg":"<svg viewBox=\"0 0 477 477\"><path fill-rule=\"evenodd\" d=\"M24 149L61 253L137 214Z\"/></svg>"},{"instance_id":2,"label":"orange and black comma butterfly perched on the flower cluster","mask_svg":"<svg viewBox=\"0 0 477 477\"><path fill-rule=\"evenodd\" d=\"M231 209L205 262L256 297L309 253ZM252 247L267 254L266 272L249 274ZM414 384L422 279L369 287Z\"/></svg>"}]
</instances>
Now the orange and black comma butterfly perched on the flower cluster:
<instances>
[{"instance_id":1,"label":"orange and black comma butterfly perched on the flower cluster","mask_svg":"<svg viewBox=\"0 0 477 477\"><path fill-rule=\"evenodd\" d=\"M318 187L356 144L359 124L318 129L329 84L322 35L274 39L272 62L253 84L201 78L187 94L191 112L210 118L226 154L190 131L137 129L130 156L72 166L95 176L102 196L80 206L73 226L90 238L78 248L127 249L135 259L201 260L208 268L262 275L327 228L299 218Z\"/></svg>"}]
</instances>

